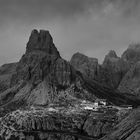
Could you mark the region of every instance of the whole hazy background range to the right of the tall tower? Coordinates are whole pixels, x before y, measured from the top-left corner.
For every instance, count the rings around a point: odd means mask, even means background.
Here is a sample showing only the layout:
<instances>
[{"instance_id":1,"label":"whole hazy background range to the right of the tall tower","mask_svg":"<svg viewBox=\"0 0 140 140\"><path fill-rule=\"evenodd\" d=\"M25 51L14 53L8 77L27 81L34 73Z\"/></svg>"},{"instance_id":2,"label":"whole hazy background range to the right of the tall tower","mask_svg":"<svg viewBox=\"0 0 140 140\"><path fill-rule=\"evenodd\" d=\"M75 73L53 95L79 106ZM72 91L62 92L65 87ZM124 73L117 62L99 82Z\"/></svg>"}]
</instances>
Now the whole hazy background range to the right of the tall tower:
<instances>
[{"instance_id":1,"label":"whole hazy background range to the right of the tall tower","mask_svg":"<svg viewBox=\"0 0 140 140\"><path fill-rule=\"evenodd\" d=\"M86 78L94 80L102 86L118 89L122 93L131 93L139 98L139 44L129 45L121 57L111 50L105 56L102 65L98 64L97 59L80 53L74 54L70 62Z\"/></svg>"}]
</instances>

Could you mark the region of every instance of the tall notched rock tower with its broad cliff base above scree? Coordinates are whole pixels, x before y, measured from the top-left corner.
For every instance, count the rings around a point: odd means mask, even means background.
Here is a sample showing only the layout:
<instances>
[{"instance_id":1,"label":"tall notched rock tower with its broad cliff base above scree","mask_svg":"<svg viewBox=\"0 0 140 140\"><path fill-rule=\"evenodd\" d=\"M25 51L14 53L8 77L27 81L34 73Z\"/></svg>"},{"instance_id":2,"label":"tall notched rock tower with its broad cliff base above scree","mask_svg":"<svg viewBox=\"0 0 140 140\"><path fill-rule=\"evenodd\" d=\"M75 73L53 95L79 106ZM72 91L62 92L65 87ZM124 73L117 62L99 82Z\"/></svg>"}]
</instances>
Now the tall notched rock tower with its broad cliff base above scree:
<instances>
[{"instance_id":1,"label":"tall notched rock tower with its broad cliff base above scree","mask_svg":"<svg viewBox=\"0 0 140 140\"><path fill-rule=\"evenodd\" d=\"M27 43L26 53L19 61L17 73L12 85L18 81L31 81L33 84L47 79L60 86L69 86L72 82L72 68L57 51L48 31L39 33L33 30Z\"/></svg>"}]
</instances>

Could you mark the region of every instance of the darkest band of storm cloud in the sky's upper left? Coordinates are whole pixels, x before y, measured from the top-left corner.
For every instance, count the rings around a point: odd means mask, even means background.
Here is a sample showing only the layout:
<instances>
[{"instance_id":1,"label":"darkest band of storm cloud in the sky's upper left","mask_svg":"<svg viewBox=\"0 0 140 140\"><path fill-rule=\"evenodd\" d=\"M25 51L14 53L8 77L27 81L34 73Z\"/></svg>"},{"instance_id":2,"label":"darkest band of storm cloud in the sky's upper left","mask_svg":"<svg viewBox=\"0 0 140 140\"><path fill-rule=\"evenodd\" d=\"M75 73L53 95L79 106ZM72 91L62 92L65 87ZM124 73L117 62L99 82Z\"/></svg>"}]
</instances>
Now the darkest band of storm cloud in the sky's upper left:
<instances>
[{"instance_id":1,"label":"darkest band of storm cloud in the sky's upper left","mask_svg":"<svg viewBox=\"0 0 140 140\"><path fill-rule=\"evenodd\" d=\"M93 0L0 0L0 15L26 20L70 18L88 13L92 4Z\"/></svg>"}]
</instances>

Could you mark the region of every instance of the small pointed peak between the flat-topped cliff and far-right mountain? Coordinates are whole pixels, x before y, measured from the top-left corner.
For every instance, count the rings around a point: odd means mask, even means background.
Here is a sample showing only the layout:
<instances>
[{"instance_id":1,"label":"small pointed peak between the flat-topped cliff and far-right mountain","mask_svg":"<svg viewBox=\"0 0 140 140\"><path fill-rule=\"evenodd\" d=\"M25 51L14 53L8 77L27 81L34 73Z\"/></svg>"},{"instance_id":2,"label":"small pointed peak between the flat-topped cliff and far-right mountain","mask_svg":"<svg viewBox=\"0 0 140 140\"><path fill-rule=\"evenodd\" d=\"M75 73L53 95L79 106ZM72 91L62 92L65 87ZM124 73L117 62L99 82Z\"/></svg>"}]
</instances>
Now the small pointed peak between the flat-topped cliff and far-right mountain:
<instances>
[{"instance_id":1,"label":"small pointed peak between the flat-topped cliff and far-right mountain","mask_svg":"<svg viewBox=\"0 0 140 140\"><path fill-rule=\"evenodd\" d=\"M119 86L123 76L129 70L128 62L119 58L113 50L105 56L102 67L109 75L108 81L110 81L110 85L115 89Z\"/></svg>"}]
</instances>

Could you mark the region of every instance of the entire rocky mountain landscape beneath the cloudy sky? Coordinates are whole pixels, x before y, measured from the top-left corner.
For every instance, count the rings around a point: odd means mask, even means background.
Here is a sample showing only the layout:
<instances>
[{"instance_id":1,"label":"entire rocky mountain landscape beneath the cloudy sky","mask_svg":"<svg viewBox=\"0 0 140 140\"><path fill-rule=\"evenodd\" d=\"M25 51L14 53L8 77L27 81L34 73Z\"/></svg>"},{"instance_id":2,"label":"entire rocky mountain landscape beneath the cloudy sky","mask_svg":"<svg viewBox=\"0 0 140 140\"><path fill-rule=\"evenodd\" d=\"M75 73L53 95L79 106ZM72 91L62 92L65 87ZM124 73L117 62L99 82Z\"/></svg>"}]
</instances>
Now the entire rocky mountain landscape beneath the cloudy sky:
<instances>
[{"instance_id":1,"label":"entire rocky mountain landscape beneath the cloudy sky","mask_svg":"<svg viewBox=\"0 0 140 140\"><path fill-rule=\"evenodd\" d=\"M138 140L139 70L139 44L68 62L34 29L19 62L0 67L0 140Z\"/></svg>"}]
</instances>

